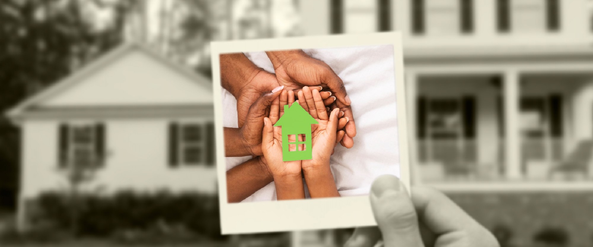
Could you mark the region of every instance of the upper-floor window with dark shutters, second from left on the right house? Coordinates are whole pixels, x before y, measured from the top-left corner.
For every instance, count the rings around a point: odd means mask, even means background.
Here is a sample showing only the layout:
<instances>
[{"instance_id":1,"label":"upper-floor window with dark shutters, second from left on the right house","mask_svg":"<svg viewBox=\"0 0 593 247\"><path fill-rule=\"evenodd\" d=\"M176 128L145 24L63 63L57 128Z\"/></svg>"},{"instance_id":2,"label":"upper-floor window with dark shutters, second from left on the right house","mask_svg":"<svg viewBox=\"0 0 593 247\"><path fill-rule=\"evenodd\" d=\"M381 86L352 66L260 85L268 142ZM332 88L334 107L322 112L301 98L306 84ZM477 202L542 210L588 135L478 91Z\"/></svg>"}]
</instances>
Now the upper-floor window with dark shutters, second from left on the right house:
<instances>
[{"instance_id":1,"label":"upper-floor window with dark shutters, second from left on the right house","mask_svg":"<svg viewBox=\"0 0 593 247\"><path fill-rule=\"evenodd\" d=\"M413 0L411 6L414 34L473 32L473 0Z\"/></svg>"}]
</instances>

